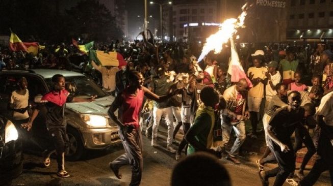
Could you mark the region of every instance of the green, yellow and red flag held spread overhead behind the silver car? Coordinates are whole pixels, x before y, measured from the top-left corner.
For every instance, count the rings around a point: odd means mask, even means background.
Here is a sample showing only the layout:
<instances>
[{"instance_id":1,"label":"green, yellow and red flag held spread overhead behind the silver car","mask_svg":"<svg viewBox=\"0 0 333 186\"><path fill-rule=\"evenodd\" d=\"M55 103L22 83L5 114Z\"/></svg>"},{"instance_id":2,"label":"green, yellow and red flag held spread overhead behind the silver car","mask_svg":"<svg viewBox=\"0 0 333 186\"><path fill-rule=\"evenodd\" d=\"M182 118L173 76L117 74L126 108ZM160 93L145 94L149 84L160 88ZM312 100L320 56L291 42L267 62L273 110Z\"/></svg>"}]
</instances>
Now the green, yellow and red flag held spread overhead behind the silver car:
<instances>
[{"instance_id":1,"label":"green, yellow and red flag held spread overhead behind the silver car","mask_svg":"<svg viewBox=\"0 0 333 186\"><path fill-rule=\"evenodd\" d=\"M94 61L97 65L101 66L126 66L127 63L118 52L104 52L100 50L89 51L89 61Z\"/></svg>"}]
</instances>

